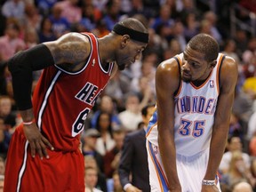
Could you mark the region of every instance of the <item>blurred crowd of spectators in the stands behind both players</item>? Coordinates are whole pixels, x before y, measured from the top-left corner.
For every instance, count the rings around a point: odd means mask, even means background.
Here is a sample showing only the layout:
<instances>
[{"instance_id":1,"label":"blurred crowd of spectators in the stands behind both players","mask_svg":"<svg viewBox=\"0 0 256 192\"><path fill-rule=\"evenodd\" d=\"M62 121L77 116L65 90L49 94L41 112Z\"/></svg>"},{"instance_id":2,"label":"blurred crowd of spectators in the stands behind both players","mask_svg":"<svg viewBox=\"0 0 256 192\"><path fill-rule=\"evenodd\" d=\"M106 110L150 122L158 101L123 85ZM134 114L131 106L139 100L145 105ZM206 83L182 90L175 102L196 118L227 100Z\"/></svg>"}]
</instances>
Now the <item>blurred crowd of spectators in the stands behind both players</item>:
<instances>
[{"instance_id":1,"label":"blurred crowd of spectators in the stands behind both players","mask_svg":"<svg viewBox=\"0 0 256 192\"><path fill-rule=\"evenodd\" d=\"M124 137L144 126L141 109L156 102L156 67L183 52L188 40L198 33L213 36L220 44L220 52L233 57L239 68L227 148L220 163L222 191L235 191L241 181L256 191L256 37L243 25L230 34L228 15L233 3L256 13L255 0L2 0L0 191L12 132L22 121L13 100L12 76L4 61L15 52L68 32L105 36L125 17L137 18L149 28L149 44L140 60L110 80L84 122L81 142L88 191L123 191L117 169ZM250 19L246 12L236 12L236 17L244 23ZM41 72L34 72L33 88Z\"/></svg>"}]
</instances>

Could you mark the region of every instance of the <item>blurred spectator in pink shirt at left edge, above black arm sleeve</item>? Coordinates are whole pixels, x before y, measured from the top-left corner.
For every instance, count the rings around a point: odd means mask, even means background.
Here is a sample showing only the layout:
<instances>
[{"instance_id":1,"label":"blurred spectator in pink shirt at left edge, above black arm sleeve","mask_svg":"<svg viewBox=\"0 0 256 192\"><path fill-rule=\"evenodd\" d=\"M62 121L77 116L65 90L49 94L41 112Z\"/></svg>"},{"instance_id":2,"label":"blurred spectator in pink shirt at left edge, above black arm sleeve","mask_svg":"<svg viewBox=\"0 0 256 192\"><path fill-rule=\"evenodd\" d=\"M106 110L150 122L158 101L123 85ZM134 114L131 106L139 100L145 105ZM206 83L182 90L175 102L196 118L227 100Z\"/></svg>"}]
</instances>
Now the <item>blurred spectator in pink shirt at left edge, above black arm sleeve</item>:
<instances>
[{"instance_id":1,"label":"blurred spectator in pink shirt at left edge, above black arm sleeve","mask_svg":"<svg viewBox=\"0 0 256 192\"><path fill-rule=\"evenodd\" d=\"M16 20L9 20L5 35L0 36L0 55L3 60L9 60L16 52L25 49L25 43L19 38L20 26Z\"/></svg>"}]
</instances>

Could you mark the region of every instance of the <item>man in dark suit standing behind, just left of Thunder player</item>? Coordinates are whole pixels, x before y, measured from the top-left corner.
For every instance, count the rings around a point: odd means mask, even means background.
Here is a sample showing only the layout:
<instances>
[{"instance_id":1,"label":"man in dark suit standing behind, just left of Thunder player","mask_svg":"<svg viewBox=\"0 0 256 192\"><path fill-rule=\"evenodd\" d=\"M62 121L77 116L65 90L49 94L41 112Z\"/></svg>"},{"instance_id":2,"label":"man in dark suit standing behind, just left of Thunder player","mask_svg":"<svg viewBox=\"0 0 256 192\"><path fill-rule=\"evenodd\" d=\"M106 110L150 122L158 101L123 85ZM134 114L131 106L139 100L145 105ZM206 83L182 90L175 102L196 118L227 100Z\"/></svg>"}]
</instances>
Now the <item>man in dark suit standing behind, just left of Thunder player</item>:
<instances>
[{"instance_id":1,"label":"man in dark suit standing behind, just left of Thunder player","mask_svg":"<svg viewBox=\"0 0 256 192\"><path fill-rule=\"evenodd\" d=\"M153 104L142 108L143 127L125 136L118 168L124 191L150 191L145 130L154 110Z\"/></svg>"}]
</instances>

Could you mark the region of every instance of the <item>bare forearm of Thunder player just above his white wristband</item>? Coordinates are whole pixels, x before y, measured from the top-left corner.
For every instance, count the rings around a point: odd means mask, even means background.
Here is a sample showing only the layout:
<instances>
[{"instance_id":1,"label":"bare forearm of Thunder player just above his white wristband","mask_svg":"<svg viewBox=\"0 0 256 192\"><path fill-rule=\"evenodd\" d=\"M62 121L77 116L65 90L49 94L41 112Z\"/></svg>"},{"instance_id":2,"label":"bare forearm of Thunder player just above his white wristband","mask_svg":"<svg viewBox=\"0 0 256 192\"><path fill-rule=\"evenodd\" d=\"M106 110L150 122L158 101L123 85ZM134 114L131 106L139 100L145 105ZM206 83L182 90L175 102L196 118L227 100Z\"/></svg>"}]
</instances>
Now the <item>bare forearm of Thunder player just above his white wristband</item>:
<instances>
[{"instance_id":1,"label":"bare forearm of Thunder player just above his white wristband","mask_svg":"<svg viewBox=\"0 0 256 192\"><path fill-rule=\"evenodd\" d=\"M215 180L216 173L223 156L226 142L228 138L228 125L222 125L213 128L212 140L210 145L210 156L208 160L207 170L204 175L204 180Z\"/></svg>"}]
</instances>

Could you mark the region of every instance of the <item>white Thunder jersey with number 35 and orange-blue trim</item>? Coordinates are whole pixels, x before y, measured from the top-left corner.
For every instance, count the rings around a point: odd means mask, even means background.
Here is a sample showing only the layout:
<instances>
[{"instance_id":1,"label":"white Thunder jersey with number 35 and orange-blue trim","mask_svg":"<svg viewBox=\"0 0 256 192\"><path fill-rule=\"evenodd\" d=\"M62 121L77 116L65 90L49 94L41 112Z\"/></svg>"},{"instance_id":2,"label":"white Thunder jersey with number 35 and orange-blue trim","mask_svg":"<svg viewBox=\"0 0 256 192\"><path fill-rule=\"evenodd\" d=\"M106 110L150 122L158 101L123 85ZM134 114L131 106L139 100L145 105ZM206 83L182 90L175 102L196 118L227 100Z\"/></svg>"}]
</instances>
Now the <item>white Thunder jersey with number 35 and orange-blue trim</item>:
<instances>
[{"instance_id":1,"label":"white Thunder jersey with number 35 and orange-blue trim","mask_svg":"<svg viewBox=\"0 0 256 192\"><path fill-rule=\"evenodd\" d=\"M180 81L179 91L174 97L174 140L178 155L194 156L210 146L214 113L220 92L219 69L223 58L224 55L220 53L217 65L204 84L197 87L191 82ZM174 59L181 65L183 53L176 55ZM157 147L157 137L156 110L148 124L147 140Z\"/></svg>"}]
</instances>

